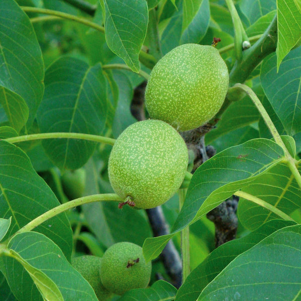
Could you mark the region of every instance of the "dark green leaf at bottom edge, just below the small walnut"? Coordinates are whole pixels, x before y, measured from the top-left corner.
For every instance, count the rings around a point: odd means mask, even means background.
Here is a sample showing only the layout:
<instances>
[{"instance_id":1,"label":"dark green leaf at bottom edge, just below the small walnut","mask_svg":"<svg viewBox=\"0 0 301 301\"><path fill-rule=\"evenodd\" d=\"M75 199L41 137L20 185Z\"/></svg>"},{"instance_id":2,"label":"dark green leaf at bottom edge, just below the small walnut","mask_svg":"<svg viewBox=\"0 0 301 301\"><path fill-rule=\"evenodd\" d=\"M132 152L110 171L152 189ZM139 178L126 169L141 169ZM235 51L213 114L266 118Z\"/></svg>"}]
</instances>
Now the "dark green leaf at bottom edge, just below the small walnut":
<instances>
[{"instance_id":1,"label":"dark green leaf at bottom edge, just below the small walnut","mask_svg":"<svg viewBox=\"0 0 301 301\"><path fill-rule=\"evenodd\" d=\"M172 284L159 280L152 287L136 288L127 291L119 301L172 301L175 299L177 288Z\"/></svg>"}]
</instances>

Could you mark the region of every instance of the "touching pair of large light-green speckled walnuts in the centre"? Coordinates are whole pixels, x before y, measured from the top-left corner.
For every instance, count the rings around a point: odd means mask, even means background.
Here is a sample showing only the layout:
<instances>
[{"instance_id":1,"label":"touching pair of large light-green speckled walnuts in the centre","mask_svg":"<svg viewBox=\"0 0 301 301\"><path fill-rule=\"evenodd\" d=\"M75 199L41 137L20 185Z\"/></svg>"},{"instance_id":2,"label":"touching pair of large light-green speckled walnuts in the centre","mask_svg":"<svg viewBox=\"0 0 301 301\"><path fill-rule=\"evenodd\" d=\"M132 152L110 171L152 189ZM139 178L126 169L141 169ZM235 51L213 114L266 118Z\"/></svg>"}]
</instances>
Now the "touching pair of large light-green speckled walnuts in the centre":
<instances>
[{"instance_id":1,"label":"touching pair of large light-green speckled walnuts in the centre","mask_svg":"<svg viewBox=\"0 0 301 301\"><path fill-rule=\"evenodd\" d=\"M184 44L166 54L150 73L145 105L150 118L117 138L108 173L116 194L131 206L154 208L180 188L188 149L178 131L210 120L222 106L228 69L213 46Z\"/></svg>"}]
</instances>

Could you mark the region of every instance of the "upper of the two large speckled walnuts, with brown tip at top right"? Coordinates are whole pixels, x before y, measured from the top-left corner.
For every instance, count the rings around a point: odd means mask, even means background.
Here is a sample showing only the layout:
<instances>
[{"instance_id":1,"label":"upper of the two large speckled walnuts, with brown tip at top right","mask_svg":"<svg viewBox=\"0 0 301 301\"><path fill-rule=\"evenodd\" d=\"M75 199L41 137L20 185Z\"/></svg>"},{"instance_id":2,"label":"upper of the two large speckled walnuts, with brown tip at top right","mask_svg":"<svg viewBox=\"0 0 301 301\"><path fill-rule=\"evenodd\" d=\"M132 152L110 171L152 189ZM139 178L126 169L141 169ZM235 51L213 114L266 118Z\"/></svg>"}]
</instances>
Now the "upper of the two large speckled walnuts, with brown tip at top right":
<instances>
[{"instance_id":1,"label":"upper of the two large speckled walnuts, with brown tip at top right","mask_svg":"<svg viewBox=\"0 0 301 301\"><path fill-rule=\"evenodd\" d=\"M150 73L145 105L150 117L179 131L201 126L218 112L229 85L228 68L212 46L184 44Z\"/></svg>"}]
</instances>

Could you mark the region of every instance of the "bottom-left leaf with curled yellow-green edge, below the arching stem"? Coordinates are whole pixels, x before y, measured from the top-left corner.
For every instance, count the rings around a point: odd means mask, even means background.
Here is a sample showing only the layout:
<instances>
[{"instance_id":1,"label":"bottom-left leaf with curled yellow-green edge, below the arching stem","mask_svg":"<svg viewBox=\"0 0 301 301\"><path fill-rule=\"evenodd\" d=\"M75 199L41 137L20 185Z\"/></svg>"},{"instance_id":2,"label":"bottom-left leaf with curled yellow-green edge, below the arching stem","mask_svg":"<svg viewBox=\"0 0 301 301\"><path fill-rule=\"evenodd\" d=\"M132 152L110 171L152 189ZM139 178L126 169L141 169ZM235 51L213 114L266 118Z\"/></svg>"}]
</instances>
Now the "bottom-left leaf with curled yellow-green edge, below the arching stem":
<instances>
[{"instance_id":1,"label":"bottom-left leaf with curled yellow-green edge, below the arching stem","mask_svg":"<svg viewBox=\"0 0 301 301\"><path fill-rule=\"evenodd\" d=\"M14 273L17 260L30 274L45 299L97 301L88 282L67 261L60 248L43 234L17 234L7 248L12 258L6 262L6 275L14 292L23 281Z\"/></svg>"}]
</instances>

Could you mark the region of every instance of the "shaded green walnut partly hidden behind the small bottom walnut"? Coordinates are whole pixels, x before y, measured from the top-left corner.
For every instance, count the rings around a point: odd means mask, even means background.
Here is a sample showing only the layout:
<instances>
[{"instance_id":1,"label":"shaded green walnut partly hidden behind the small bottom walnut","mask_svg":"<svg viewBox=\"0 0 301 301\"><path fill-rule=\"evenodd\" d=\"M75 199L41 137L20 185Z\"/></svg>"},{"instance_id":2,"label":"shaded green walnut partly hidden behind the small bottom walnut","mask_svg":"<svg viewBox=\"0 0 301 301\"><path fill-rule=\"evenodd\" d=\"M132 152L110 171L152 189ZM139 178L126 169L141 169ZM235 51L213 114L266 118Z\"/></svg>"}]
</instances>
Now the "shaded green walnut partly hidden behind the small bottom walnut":
<instances>
[{"instance_id":1,"label":"shaded green walnut partly hidden behind the small bottom walnut","mask_svg":"<svg viewBox=\"0 0 301 301\"><path fill-rule=\"evenodd\" d=\"M104 301L111 296L101 283L102 258L93 255L83 255L72 259L73 267L90 283L99 301Z\"/></svg>"}]
</instances>

